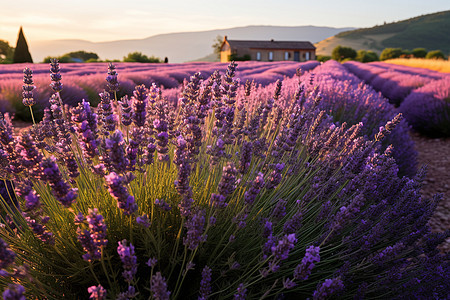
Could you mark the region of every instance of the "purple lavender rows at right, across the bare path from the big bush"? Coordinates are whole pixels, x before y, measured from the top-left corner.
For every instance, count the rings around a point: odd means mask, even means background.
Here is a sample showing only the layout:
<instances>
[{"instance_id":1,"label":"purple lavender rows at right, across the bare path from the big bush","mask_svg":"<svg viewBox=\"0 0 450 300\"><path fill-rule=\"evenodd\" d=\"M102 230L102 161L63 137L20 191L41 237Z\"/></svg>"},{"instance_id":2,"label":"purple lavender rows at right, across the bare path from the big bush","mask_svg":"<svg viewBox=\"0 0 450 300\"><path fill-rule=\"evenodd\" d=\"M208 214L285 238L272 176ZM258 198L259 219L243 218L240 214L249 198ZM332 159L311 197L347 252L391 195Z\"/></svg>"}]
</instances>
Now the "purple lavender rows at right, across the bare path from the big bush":
<instances>
[{"instance_id":1,"label":"purple lavender rows at right, across the bare path from the big bush","mask_svg":"<svg viewBox=\"0 0 450 300\"><path fill-rule=\"evenodd\" d=\"M344 66L387 97L415 130L450 136L450 74L385 63Z\"/></svg>"}]
</instances>

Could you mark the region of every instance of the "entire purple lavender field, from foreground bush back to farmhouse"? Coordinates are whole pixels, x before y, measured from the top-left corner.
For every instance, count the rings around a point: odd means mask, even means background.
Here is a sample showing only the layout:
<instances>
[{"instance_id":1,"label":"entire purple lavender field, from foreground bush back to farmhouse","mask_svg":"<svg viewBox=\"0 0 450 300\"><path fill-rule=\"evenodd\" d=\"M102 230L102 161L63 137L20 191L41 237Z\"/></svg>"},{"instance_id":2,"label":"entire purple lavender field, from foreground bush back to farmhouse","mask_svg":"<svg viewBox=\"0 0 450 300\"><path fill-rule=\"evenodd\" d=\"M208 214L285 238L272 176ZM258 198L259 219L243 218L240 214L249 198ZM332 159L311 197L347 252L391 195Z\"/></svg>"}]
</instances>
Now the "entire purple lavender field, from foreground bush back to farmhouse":
<instances>
[{"instance_id":1,"label":"entire purple lavender field, from foreground bush back to farmhouse","mask_svg":"<svg viewBox=\"0 0 450 300\"><path fill-rule=\"evenodd\" d=\"M23 67L0 70L4 299L448 298L442 195L421 196L409 131L447 134L450 77ZM33 126L16 135L13 114Z\"/></svg>"}]
</instances>

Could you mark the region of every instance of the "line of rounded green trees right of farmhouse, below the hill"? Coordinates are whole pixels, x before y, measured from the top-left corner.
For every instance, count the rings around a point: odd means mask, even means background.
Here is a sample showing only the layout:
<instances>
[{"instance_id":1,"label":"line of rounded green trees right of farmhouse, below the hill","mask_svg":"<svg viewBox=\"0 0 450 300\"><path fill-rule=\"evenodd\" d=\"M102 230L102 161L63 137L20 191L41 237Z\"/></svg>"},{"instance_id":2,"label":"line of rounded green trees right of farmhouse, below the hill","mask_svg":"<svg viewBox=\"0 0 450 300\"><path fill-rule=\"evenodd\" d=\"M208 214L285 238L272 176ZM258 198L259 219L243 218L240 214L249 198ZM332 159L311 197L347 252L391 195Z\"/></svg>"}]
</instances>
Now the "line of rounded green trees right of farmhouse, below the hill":
<instances>
[{"instance_id":1,"label":"line of rounded green trees right of farmhouse, below the hill","mask_svg":"<svg viewBox=\"0 0 450 300\"><path fill-rule=\"evenodd\" d=\"M318 61L327 61L334 59L339 62L348 60L356 60L360 62L371 61L383 61L394 58L425 58L425 59L446 59L444 53L441 50L427 51L425 48L415 48L413 50L406 50L402 48L386 48L380 56L377 53L370 50L358 50L351 47L337 46L333 49L331 56L318 55Z\"/></svg>"}]
</instances>

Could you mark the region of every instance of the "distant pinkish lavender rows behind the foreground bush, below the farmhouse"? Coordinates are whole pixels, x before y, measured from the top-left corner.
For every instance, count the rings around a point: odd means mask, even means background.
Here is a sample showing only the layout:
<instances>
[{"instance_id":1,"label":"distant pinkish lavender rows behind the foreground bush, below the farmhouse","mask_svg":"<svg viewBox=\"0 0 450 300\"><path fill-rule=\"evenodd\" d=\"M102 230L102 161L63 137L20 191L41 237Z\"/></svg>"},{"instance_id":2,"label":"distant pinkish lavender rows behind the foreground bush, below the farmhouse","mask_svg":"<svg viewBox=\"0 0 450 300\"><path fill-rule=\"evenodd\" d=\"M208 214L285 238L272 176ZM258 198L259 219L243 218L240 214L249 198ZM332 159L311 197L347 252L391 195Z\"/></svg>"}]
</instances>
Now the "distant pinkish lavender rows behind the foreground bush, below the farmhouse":
<instances>
[{"instance_id":1,"label":"distant pinkish lavender rows behind the foreground bush, below the farmhouse","mask_svg":"<svg viewBox=\"0 0 450 300\"><path fill-rule=\"evenodd\" d=\"M317 61L306 63L280 62L274 65L269 62L243 62L239 70L241 80L254 80L258 84L267 85L277 79L292 77L297 68L310 70L316 67ZM2 65L0 67L0 112L13 112L16 117L29 120L29 114L21 105L20 86L17 80L21 80L22 70L26 64ZM76 106L81 99L89 100L96 105L99 101L98 94L105 89L104 72L105 64L63 64L64 78L67 78L64 90L61 92L65 103ZM189 79L195 72L201 72L204 76L210 76L216 69L225 70L225 63L184 63L184 64L141 64L118 63L117 70L121 74L121 85L118 91L119 97L131 94L136 85L144 84L150 87L152 83L166 89L177 88L184 80ZM42 116L42 109L48 103L51 89L48 86L48 65L33 65L35 75L34 82L37 86L35 99L39 103L36 114Z\"/></svg>"}]
</instances>

